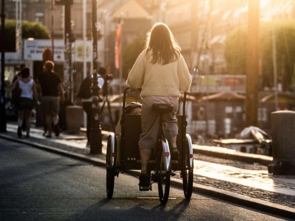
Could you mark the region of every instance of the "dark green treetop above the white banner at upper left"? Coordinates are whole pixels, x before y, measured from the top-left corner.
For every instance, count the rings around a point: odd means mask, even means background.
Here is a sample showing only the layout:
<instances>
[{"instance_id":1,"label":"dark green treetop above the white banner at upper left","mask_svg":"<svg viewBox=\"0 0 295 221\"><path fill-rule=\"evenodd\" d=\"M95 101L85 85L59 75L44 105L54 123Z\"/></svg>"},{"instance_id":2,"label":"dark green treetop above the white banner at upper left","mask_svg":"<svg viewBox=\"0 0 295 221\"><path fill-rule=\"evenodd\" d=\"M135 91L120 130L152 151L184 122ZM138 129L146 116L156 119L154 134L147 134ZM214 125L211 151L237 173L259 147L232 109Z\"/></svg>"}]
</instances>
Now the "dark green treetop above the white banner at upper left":
<instances>
[{"instance_id":1,"label":"dark green treetop above the white banner at upper left","mask_svg":"<svg viewBox=\"0 0 295 221\"><path fill-rule=\"evenodd\" d=\"M1 23L0 23L1 24ZM22 37L49 39L51 38L48 28L38 22L22 22ZM15 20L5 20L5 51L15 51Z\"/></svg>"}]
</instances>

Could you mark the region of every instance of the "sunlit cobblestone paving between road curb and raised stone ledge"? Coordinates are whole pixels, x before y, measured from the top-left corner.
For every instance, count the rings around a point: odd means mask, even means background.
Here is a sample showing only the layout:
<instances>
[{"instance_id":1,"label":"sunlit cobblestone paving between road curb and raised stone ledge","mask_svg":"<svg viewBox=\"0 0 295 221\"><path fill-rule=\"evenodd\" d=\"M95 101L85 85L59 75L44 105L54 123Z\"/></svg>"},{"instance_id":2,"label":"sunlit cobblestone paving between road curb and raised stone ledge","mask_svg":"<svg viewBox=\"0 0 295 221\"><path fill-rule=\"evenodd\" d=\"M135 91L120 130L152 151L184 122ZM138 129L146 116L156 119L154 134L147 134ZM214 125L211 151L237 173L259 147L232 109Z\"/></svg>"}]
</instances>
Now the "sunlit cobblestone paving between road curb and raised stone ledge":
<instances>
[{"instance_id":1,"label":"sunlit cobblestone paving between road curb and raised stone ledge","mask_svg":"<svg viewBox=\"0 0 295 221\"><path fill-rule=\"evenodd\" d=\"M16 137L16 127L14 125L8 125L8 131L14 133L8 133L9 136ZM74 153L89 155L89 148L86 147L87 140L83 138L83 134L70 139L69 135L61 135L60 138L46 139L42 137L42 130L32 128L31 138L29 141L53 146L63 150L71 151ZM104 141L103 153L106 152L106 141ZM105 160L105 155L96 155L99 159ZM276 193L277 188L282 190L295 192L295 183L290 183L290 177L275 177L271 174L267 174L267 167L257 164L247 164L228 159L220 159L215 157L209 157L201 154L194 154L195 169L194 169L194 182L206 186L211 186L235 193L247 195L253 198L259 198L273 203L289 206L295 208L295 195ZM224 179L220 177L220 174L211 174L216 172L215 165L219 165L218 168L222 170L222 175L227 175L230 178L242 180L241 183L231 182L229 178ZM224 167L224 168L222 168ZM234 171L235 170L235 171ZM246 171L246 172L245 172ZM211 176L211 177L210 177ZM177 178L180 179L179 173ZM295 177L294 177L295 178ZM223 179L223 180L222 180ZM275 182L275 179L278 179ZM295 179L291 179L292 181ZM244 183L261 182L262 184L271 184L275 188L274 191L267 191L261 188L255 188L252 186L244 185Z\"/></svg>"}]
</instances>

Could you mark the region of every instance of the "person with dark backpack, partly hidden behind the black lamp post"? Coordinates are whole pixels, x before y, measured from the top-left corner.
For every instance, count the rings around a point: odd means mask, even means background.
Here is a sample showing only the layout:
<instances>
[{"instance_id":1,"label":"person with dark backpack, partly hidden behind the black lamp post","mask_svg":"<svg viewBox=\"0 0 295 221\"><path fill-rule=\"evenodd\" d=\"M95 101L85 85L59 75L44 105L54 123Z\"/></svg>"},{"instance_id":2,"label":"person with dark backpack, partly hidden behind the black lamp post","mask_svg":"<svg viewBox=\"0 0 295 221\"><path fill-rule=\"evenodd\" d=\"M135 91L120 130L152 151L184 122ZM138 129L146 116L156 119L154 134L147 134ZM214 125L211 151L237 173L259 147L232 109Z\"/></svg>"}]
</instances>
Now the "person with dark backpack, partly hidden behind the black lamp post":
<instances>
[{"instance_id":1,"label":"person with dark backpack, partly hidden behind the black lamp post","mask_svg":"<svg viewBox=\"0 0 295 221\"><path fill-rule=\"evenodd\" d=\"M98 70L98 85L99 87L103 87L104 79L102 76L106 74L104 68L99 68ZM86 135L87 135L87 146L90 145L90 129L91 129L91 121L92 121L92 93L91 93L91 86L92 86L93 75L87 76L81 86L79 88L77 97L82 99L83 110L87 114L87 127L86 127Z\"/></svg>"}]
</instances>

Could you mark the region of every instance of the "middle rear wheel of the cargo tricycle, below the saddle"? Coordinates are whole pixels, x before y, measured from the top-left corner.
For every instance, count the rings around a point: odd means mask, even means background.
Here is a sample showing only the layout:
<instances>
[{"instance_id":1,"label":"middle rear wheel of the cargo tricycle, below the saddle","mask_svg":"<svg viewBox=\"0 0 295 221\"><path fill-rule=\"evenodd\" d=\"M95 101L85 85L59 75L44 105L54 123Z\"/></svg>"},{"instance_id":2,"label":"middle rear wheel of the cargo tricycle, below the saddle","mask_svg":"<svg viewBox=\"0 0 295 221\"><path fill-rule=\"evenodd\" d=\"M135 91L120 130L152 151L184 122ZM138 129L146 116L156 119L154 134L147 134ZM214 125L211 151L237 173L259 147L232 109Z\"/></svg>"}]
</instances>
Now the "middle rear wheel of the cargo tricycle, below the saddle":
<instances>
[{"instance_id":1,"label":"middle rear wheel of the cargo tricycle, below the saddle","mask_svg":"<svg viewBox=\"0 0 295 221\"><path fill-rule=\"evenodd\" d=\"M157 161L157 178L158 178L158 193L159 200L162 204L166 204L170 193L170 173L165 166L165 152L163 143L161 143L160 152Z\"/></svg>"}]
</instances>

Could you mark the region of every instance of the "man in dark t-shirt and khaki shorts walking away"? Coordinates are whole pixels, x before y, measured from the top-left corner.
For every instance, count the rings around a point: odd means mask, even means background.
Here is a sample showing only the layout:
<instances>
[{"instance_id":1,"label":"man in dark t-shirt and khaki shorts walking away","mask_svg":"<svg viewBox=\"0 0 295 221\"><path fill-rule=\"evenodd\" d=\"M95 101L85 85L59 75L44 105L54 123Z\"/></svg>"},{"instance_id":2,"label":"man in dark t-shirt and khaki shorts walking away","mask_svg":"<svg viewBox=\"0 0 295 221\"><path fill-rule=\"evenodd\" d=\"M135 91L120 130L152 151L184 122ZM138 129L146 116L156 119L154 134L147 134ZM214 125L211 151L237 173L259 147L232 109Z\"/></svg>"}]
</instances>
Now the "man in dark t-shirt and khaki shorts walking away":
<instances>
[{"instance_id":1,"label":"man in dark t-shirt and khaki shorts walking away","mask_svg":"<svg viewBox=\"0 0 295 221\"><path fill-rule=\"evenodd\" d=\"M45 115L46 138L52 138L52 124L56 137L59 136L59 99L64 102L64 91L59 74L54 71L54 62L46 61L38 76L41 87L41 107Z\"/></svg>"}]
</instances>

